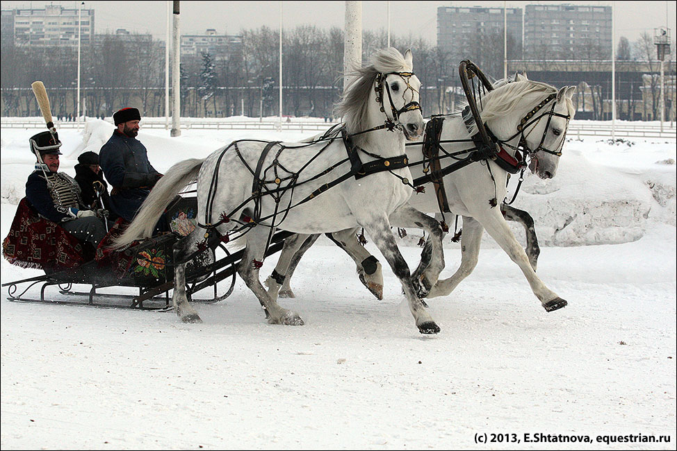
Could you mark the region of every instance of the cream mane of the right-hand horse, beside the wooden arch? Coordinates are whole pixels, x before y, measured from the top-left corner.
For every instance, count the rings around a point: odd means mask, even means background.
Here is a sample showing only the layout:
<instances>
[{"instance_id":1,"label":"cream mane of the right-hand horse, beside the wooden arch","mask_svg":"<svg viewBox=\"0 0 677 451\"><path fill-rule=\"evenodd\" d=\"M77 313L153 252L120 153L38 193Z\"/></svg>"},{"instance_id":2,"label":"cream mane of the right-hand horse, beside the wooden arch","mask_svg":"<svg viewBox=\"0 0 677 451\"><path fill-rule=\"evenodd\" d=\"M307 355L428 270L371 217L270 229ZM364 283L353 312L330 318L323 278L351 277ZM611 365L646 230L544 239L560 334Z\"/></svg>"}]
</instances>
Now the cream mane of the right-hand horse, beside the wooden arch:
<instances>
[{"instance_id":1,"label":"cream mane of the right-hand horse, beside the wooden arch","mask_svg":"<svg viewBox=\"0 0 677 451\"><path fill-rule=\"evenodd\" d=\"M487 92L482 98L482 105L478 105L482 121L486 122L497 117L503 117L513 112L525 96L534 96L543 100L550 94L557 94L557 88L539 81L523 80L505 83L500 80L495 90ZM569 112L573 111L573 103L568 101ZM471 126L470 134L478 133L477 124Z\"/></svg>"}]
</instances>

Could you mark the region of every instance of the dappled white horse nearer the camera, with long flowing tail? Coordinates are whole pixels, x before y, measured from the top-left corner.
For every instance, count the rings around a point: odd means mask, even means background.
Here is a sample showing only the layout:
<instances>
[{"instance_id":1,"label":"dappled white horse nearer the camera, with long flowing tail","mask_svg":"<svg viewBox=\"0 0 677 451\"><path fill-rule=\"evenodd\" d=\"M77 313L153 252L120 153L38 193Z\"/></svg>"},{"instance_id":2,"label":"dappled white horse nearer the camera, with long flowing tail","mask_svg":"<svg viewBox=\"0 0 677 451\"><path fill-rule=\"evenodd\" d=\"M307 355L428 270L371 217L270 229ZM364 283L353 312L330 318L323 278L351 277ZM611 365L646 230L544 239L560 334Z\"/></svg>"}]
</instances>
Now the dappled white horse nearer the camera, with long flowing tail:
<instances>
[{"instance_id":1,"label":"dappled white horse nearer the camera, with long flowing tail","mask_svg":"<svg viewBox=\"0 0 677 451\"><path fill-rule=\"evenodd\" d=\"M302 325L300 316L280 307L259 281L266 246L276 228L302 234L363 227L398 276L409 309L421 333L439 332L416 295L395 244L391 221L414 224L436 221L407 205L411 172L405 160L405 138L423 133L418 105L421 82L412 71L411 51L380 51L373 64L358 69L338 110L345 118L350 142L316 143L236 141L205 160L175 164L154 187L136 219L117 241L125 246L150 237L164 208L197 178L199 226L174 246L174 261L185 259L219 241L239 237L246 242L238 273L266 310L269 323ZM368 133L364 130L372 130ZM355 160L364 162L364 166ZM376 168L376 169L373 169ZM368 174L361 177L361 174ZM245 234L246 232L246 234ZM441 230L437 234L428 280L442 269ZM177 264L172 300L182 321L201 321L186 298L185 264Z\"/></svg>"}]
</instances>

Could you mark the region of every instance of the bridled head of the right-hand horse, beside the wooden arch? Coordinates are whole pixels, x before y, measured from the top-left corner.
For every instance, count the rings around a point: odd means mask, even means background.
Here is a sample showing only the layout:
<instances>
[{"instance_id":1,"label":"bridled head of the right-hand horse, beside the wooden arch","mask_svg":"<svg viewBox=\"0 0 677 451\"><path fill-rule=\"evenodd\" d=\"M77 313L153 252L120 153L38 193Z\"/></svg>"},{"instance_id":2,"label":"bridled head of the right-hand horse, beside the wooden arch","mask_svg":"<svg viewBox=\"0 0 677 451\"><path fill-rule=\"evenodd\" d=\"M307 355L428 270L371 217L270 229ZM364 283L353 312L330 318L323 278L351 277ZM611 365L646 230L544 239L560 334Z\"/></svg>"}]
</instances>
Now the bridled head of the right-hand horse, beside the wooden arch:
<instances>
[{"instance_id":1,"label":"bridled head of the right-hand horse, beside the wooden arch","mask_svg":"<svg viewBox=\"0 0 677 451\"><path fill-rule=\"evenodd\" d=\"M546 100L550 99L551 105L546 103L535 113L532 128L526 125L529 120L523 126L522 145L530 156L529 169L540 178L553 178L557 172L566 130L576 112L571 101L575 92L576 86L565 86L550 94Z\"/></svg>"}]
</instances>

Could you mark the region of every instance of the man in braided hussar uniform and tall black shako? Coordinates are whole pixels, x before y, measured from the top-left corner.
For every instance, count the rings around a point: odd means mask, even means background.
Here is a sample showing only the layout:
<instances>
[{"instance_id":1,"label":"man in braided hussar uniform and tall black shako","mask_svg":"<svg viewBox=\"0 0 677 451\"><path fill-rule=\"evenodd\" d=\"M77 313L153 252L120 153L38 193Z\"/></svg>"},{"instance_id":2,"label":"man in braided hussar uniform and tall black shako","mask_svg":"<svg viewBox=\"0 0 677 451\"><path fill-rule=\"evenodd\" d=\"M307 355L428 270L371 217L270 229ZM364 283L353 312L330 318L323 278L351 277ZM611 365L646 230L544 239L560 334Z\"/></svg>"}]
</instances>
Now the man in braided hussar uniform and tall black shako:
<instances>
[{"instance_id":1,"label":"man in braided hussar uniform and tall black shako","mask_svg":"<svg viewBox=\"0 0 677 451\"><path fill-rule=\"evenodd\" d=\"M58 172L61 155L58 134L38 133L28 142L38 162L26 181L26 200L40 216L97 248L106 236L104 222L83 204L78 183L67 173Z\"/></svg>"}]
</instances>

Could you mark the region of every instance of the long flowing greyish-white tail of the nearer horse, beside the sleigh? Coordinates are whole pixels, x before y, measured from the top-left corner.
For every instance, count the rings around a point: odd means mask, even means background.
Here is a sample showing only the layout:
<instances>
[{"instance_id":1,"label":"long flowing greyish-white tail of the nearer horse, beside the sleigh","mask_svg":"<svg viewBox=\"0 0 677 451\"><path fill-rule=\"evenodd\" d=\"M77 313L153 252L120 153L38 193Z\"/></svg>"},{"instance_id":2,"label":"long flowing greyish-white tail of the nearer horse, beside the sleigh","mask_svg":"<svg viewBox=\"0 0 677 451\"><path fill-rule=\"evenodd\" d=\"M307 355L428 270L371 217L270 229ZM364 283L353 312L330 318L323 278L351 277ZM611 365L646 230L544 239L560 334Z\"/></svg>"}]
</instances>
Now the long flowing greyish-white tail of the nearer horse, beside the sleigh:
<instances>
[{"instance_id":1,"label":"long flowing greyish-white tail of the nearer horse, beside the sleigh","mask_svg":"<svg viewBox=\"0 0 677 451\"><path fill-rule=\"evenodd\" d=\"M136 218L131 221L127 230L113 241L113 247L122 248L136 239L152 237L155 225L165 212L165 208L186 185L197 179L203 163L204 159L191 158L170 167L143 201Z\"/></svg>"}]
</instances>

